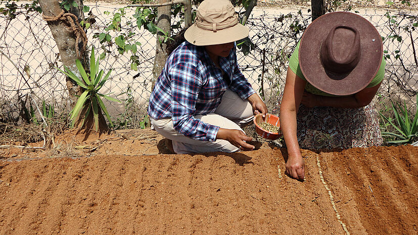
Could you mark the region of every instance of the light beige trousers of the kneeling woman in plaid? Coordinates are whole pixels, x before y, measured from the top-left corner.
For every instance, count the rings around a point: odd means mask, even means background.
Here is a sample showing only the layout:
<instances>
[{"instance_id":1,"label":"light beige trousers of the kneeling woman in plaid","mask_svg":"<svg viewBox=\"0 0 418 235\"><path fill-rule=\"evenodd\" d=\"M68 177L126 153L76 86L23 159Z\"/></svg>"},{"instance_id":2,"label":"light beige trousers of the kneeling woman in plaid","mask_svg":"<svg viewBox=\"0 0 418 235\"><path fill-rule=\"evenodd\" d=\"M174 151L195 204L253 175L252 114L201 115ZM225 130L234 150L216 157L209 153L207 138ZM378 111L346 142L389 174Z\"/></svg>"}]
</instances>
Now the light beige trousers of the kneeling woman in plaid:
<instances>
[{"instance_id":1,"label":"light beige trousers of the kneeling woman in plaid","mask_svg":"<svg viewBox=\"0 0 418 235\"><path fill-rule=\"evenodd\" d=\"M243 131L241 127L252 122L254 113L248 100L243 100L237 93L227 89L214 113L194 117L213 126ZM150 120L159 134L172 140L176 153L237 152L240 150L226 140L209 142L186 137L174 129L171 118L155 120L150 117Z\"/></svg>"}]
</instances>

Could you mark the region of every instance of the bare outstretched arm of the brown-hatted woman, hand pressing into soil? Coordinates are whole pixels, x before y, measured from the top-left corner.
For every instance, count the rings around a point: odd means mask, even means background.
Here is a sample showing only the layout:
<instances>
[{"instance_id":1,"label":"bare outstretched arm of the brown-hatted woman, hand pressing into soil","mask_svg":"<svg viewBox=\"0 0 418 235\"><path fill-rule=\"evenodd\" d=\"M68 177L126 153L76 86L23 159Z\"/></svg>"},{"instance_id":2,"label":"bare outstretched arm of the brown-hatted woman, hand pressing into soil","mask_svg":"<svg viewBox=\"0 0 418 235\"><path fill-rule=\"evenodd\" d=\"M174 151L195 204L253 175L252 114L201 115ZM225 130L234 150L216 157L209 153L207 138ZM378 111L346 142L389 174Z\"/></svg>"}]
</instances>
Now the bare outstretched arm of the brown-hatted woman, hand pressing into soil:
<instances>
[{"instance_id":1,"label":"bare outstretched arm of the brown-hatted woman, hand pressing into soil","mask_svg":"<svg viewBox=\"0 0 418 235\"><path fill-rule=\"evenodd\" d=\"M305 174L305 162L300 153L296 135L296 114L302 100L305 85L306 82L288 68L285 90L280 106L280 123L289 154L286 162L286 172L297 180L303 180Z\"/></svg>"}]
</instances>

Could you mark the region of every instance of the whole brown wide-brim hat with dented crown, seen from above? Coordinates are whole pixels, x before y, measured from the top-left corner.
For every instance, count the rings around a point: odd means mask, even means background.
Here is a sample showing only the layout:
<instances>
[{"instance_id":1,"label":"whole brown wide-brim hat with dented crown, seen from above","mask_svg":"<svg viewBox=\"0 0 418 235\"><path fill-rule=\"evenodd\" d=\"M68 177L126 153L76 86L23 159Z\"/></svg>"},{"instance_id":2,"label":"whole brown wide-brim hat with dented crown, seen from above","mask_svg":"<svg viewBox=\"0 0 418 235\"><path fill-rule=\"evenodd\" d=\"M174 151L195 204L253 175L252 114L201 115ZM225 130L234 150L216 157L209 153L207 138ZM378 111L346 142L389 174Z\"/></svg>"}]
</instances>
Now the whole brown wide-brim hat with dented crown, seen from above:
<instances>
[{"instance_id":1,"label":"whole brown wide-brim hat with dented crown, seen from above","mask_svg":"<svg viewBox=\"0 0 418 235\"><path fill-rule=\"evenodd\" d=\"M382 55L382 39L370 22L353 13L334 12L314 20L303 33L299 65L319 90L351 95L373 80Z\"/></svg>"}]
</instances>

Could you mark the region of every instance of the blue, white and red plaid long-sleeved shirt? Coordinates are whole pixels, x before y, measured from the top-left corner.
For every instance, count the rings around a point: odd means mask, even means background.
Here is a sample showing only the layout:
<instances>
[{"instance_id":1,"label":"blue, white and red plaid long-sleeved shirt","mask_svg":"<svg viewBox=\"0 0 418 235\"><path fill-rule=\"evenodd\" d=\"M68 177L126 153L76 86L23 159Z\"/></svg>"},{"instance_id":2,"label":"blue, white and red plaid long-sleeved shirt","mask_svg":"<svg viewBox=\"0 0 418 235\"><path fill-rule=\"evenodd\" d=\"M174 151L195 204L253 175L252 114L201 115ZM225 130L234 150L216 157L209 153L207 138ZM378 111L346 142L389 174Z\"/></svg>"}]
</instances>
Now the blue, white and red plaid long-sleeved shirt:
<instances>
[{"instance_id":1,"label":"blue, white and red plaid long-sleeved shirt","mask_svg":"<svg viewBox=\"0 0 418 235\"><path fill-rule=\"evenodd\" d=\"M148 114L157 120L171 118L174 129L184 136L215 141L219 127L194 115L214 112L227 88L243 99L255 93L238 67L236 47L228 57L219 57L219 64L225 79L203 46L184 41L171 52L156 81Z\"/></svg>"}]
</instances>

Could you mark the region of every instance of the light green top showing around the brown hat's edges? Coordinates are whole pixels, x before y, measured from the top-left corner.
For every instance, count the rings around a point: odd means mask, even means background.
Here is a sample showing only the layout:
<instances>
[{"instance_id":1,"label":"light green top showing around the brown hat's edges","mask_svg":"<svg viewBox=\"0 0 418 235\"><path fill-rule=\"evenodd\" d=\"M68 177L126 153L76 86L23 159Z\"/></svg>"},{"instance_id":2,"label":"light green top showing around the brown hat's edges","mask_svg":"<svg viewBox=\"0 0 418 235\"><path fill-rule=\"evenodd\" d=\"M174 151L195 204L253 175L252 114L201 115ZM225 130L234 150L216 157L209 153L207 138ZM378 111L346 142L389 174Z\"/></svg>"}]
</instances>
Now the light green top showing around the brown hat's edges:
<instances>
[{"instance_id":1,"label":"light green top showing around the brown hat's edges","mask_svg":"<svg viewBox=\"0 0 418 235\"><path fill-rule=\"evenodd\" d=\"M306 81L306 78L305 78L305 76L303 76L302 71L300 70L300 66L299 66L299 45L300 45L300 41L296 45L295 51L293 51L292 56L290 56L289 68L299 78ZM386 61L385 61L384 58L382 58L382 64L380 65L378 73L373 78L373 80L371 80L371 82L366 86L366 88L374 87L374 86L378 85L380 82L383 81L383 78L385 77L385 66L386 66ZM337 95L332 95L332 94L328 94L326 92L323 92L323 91L317 89L316 87L312 86L309 82L306 83L305 91L307 91L311 94L315 94L315 95L337 96Z\"/></svg>"}]
</instances>

